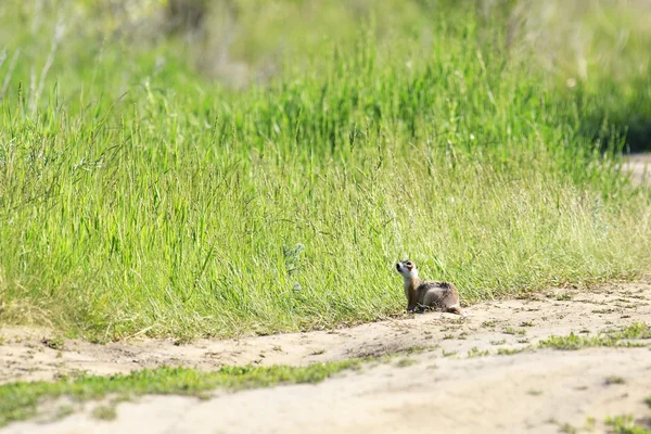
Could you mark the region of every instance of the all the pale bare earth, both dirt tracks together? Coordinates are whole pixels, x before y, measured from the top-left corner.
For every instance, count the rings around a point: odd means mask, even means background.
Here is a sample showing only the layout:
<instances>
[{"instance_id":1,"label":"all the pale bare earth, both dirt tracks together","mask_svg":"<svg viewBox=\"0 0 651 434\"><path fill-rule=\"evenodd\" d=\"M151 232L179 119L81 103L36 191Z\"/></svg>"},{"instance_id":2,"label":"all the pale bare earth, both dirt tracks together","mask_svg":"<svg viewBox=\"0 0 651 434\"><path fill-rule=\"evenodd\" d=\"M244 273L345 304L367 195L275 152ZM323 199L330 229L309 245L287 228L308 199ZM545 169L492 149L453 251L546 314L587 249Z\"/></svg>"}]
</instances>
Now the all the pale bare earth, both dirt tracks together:
<instances>
[{"instance_id":1,"label":"all the pale bare earth, both dirt tracks together","mask_svg":"<svg viewBox=\"0 0 651 434\"><path fill-rule=\"evenodd\" d=\"M634 414L651 425L651 348L525 348L551 334L595 334L651 318L651 282L608 284L579 292L558 289L522 299L465 309L468 318L431 312L336 331L196 341L167 340L93 345L66 341L46 346L47 331L2 330L0 382L53 379L82 370L108 374L182 365L307 365L427 350L371 363L317 385L216 392L208 400L151 396L117 407L117 419L98 421L93 404L52 423L14 423L2 433L558 433L567 426L604 432L608 416ZM513 334L514 333L514 334ZM473 350L473 348L476 348ZM470 357L474 352L488 355ZM607 384L609 376L623 379ZM564 424L570 424L565 425ZM580 432L580 431L579 431Z\"/></svg>"}]
</instances>

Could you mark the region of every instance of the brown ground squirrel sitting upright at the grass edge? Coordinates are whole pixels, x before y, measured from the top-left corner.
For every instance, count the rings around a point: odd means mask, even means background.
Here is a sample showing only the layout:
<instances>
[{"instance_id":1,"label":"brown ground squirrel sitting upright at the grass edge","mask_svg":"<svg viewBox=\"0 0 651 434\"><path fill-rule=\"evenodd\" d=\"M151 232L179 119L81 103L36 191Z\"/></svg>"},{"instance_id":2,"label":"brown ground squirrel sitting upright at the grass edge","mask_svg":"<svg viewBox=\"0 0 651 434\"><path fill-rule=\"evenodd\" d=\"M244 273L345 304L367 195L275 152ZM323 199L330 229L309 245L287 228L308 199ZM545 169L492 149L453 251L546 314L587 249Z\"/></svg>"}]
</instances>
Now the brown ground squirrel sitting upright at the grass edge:
<instances>
[{"instance_id":1,"label":"brown ground squirrel sitting upright at the grass edge","mask_svg":"<svg viewBox=\"0 0 651 434\"><path fill-rule=\"evenodd\" d=\"M405 280L405 296L407 310L423 312L425 307L443 308L445 311L464 316L459 305L459 292L449 282L420 280L418 268L411 260L396 264L396 269Z\"/></svg>"}]
</instances>

